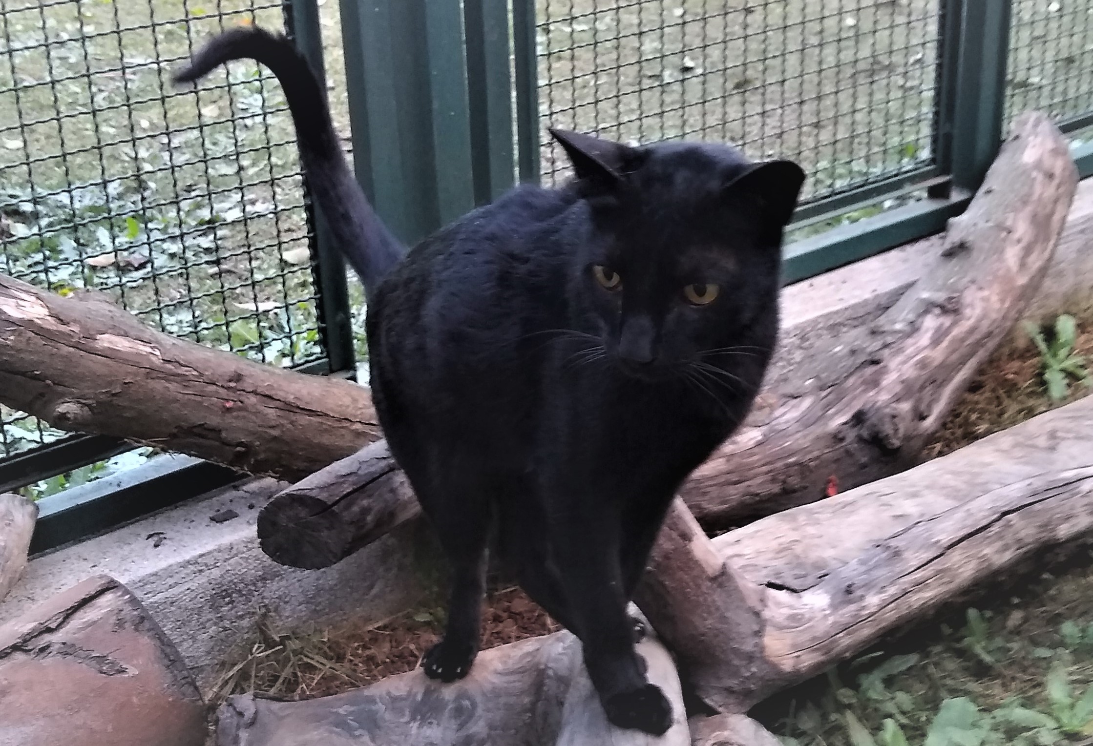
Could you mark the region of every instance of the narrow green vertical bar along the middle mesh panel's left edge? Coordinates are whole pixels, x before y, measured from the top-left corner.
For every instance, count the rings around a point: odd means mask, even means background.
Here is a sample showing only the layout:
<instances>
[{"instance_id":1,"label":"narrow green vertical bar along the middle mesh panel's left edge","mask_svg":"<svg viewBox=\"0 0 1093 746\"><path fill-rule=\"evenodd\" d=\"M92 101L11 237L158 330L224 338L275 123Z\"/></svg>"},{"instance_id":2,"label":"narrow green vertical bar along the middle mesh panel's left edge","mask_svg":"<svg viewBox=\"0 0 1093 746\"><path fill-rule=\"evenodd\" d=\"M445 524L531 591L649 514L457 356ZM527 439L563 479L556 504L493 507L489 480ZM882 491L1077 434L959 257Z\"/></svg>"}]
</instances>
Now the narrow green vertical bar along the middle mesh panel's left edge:
<instances>
[{"instance_id":1,"label":"narrow green vertical bar along the middle mesh panel's left edge","mask_svg":"<svg viewBox=\"0 0 1093 746\"><path fill-rule=\"evenodd\" d=\"M513 0L513 70L520 181L539 182L539 58L536 0Z\"/></svg>"}]
</instances>

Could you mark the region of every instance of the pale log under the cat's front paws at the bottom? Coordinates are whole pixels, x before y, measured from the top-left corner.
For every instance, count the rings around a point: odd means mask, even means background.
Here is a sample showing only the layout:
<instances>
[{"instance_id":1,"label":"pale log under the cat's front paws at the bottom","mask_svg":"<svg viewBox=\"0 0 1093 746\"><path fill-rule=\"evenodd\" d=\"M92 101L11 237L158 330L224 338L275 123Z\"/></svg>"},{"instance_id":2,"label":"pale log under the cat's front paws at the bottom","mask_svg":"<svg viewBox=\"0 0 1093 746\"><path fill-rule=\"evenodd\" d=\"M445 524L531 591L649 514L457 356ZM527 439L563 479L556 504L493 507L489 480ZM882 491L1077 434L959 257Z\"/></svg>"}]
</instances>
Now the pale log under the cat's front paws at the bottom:
<instances>
[{"instance_id":1,"label":"pale log under the cat's front paws at the bottom","mask_svg":"<svg viewBox=\"0 0 1093 746\"><path fill-rule=\"evenodd\" d=\"M231 697L218 713L219 746L686 746L679 678L651 637L637 646L675 711L663 736L610 726L585 673L580 643L555 632L483 651L467 678L413 671L302 702Z\"/></svg>"}]
</instances>

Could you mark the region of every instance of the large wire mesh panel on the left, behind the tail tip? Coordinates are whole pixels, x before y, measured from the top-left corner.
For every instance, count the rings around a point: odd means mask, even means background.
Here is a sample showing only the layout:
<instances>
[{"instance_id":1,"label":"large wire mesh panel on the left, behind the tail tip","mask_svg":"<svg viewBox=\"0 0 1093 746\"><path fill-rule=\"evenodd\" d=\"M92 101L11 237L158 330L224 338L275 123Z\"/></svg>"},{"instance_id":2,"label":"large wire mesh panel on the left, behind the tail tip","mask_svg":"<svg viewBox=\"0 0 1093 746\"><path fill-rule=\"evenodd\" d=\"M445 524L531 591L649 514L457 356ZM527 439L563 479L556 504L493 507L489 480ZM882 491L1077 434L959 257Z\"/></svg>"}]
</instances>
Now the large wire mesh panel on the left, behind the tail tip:
<instances>
[{"instance_id":1,"label":"large wire mesh panel on the left, behind the tail tip","mask_svg":"<svg viewBox=\"0 0 1093 746\"><path fill-rule=\"evenodd\" d=\"M280 0L0 1L0 272L104 292L171 334L281 366L322 356L295 133L254 63L172 70ZM62 434L0 410L0 457Z\"/></svg>"}]
</instances>

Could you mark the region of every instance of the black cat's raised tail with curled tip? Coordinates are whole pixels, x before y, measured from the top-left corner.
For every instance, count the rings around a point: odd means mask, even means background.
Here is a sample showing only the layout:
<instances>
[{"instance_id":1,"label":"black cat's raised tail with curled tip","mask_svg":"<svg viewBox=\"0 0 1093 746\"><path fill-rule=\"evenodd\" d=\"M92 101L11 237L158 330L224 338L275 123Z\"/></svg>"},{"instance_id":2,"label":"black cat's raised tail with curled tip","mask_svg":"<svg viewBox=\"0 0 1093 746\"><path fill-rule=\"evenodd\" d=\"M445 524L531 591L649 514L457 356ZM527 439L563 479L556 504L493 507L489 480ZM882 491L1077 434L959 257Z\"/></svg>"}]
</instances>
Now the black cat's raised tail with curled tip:
<instances>
[{"instance_id":1,"label":"black cat's raised tail with curled tip","mask_svg":"<svg viewBox=\"0 0 1093 746\"><path fill-rule=\"evenodd\" d=\"M349 260L372 296L406 248L391 235L368 204L342 155L330 120L327 97L307 60L283 36L252 26L233 28L211 39L181 70L176 83L193 83L213 68L252 59L277 75L296 126L304 174L339 250Z\"/></svg>"}]
</instances>

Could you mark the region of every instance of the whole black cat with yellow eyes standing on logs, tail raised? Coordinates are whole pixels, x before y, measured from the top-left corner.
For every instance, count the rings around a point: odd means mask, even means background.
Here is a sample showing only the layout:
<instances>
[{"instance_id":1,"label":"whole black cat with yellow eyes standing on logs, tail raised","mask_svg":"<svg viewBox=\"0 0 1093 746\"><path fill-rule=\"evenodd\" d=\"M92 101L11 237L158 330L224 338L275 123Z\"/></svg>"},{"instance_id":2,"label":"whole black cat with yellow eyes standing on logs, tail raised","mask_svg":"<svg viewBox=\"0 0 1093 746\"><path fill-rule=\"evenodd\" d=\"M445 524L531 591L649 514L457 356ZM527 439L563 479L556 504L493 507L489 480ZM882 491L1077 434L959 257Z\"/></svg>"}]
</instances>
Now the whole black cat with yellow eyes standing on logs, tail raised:
<instances>
[{"instance_id":1,"label":"whole black cat with yellow eyes standing on logs, tail raised","mask_svg":"<svg viewBox=\"0 0 1093 746\"><path fill-rule=\"evenodd\" d=\"M459 678L474 659L495 525L524 589L580 638L611 722L663 733L671 707L645 678L626 603L677 488L763 378L800 168L552 131L575 180L514 189L403 258L289 42L228 32L177 80L244 57L284 86L308 182L365 284L380 423L451 560L425 673ZM719 292L700 307L692 284Z\"/></svg>"}]
</instances>

